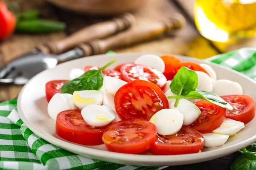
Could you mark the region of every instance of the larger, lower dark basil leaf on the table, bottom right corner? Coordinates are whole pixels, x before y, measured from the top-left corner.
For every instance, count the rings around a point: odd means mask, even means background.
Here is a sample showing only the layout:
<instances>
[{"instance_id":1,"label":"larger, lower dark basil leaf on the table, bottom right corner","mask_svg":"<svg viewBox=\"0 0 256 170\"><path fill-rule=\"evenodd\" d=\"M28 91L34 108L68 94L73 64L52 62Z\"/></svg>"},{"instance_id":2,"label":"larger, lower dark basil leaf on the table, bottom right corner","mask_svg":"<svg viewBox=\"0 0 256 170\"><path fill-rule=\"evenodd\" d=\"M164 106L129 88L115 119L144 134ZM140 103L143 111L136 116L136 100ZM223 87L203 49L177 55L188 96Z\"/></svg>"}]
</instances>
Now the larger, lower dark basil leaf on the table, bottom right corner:
<instances>
[{"instance_id":1,"label":"larger, lower dark basil leaf on the table, bottom right corner","mask_svg":"<svg viewBox=\"0 0 256 170\"><path fill-rule=\"evenodd\" d=\"M231 165L231 170L256 170L256 153L247 152L239 156Z\"/></svg>"}]
</instances>

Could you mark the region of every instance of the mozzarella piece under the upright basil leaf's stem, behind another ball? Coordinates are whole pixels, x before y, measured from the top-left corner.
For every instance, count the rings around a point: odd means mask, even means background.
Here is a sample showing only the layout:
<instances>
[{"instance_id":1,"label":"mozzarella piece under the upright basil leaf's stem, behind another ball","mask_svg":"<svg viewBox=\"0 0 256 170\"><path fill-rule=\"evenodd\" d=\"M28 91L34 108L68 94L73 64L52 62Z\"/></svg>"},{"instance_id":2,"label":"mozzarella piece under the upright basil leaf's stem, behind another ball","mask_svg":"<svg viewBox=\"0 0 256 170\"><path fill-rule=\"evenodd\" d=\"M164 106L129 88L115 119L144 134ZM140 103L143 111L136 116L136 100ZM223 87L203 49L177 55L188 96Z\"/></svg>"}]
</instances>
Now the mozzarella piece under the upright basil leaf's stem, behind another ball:
<instances>
[{"instance_id":1,"label":"mozzarella piece under the upright basil leaf's stem, behind another ball","mask_svg":"<svg viewBox=\"0 0 256 170\"><path fill-rule=\"evenodd\" d=\"M200 109L192 102L186 99L180 99L177 108L174 107L175 101L169 106L171 109L177 109L184 116L183 125L192 124L201 114Z\"/></svg>"}]
</instances>

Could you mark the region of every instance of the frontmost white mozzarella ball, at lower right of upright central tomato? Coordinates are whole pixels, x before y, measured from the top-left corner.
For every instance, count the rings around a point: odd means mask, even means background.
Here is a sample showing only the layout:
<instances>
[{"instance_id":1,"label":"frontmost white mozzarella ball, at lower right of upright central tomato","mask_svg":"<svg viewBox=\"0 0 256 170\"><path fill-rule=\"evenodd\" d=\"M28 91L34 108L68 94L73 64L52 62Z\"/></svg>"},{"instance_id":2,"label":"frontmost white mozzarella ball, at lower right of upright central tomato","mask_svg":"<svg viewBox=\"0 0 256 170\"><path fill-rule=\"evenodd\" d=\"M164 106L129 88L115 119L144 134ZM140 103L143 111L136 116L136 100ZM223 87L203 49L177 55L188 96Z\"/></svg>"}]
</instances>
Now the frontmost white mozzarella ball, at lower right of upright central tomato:
<instances>
[{"instance_id":1,"label":"frontmost white mozzarella ball, at lower right of upright central tomato","mask_svg":"<svg viewBox=\"0 0 256 170\"><path fill-rule=\"evenodd\" d=\"M183 114L177 109L162 109L155 113L149 122L157 127L160 135L172 135L177 133L183 124Z\"/></svg>"}]
</instances>

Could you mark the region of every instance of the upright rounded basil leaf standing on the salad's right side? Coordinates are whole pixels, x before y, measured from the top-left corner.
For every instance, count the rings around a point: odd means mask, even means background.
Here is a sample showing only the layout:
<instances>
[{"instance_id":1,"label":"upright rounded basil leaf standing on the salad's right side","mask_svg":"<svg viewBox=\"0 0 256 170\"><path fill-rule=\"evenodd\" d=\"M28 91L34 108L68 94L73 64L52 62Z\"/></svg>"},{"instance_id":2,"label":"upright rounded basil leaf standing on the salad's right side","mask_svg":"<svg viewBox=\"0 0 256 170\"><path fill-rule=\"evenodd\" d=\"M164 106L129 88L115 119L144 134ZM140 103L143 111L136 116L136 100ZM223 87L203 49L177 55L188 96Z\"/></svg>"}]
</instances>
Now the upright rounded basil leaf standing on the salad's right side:
<instances>
[{"instance_id":1,"label":"upright rounded basil leaf standing on the salad's right side","mask_svg":"<svg viewBox=\"0 0 256 170\"><path fill-rule=\"evenodd\" d=\"M186 67L181 67L175 75L170 88L172 93L177 95L186 95L190 91L195 91L198 86L198 76L195 71ZM179 99L175 101L175 107L177 107Z\"/></svg>"}]
</instances>

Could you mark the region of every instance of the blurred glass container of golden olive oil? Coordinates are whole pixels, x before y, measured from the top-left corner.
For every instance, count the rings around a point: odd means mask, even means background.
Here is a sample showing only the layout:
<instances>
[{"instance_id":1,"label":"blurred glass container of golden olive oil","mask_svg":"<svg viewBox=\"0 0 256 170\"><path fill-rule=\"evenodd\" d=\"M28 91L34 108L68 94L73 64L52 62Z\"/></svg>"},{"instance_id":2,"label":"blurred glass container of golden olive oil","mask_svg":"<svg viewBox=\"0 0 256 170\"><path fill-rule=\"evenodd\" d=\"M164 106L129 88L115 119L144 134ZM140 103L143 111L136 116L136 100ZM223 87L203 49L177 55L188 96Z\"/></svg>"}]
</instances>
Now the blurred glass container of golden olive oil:
<instances>
[{"instance_id":1,"label":"blurred glass container of golden olive oil","mask_svg":"<svg viewBox=\"0 0 256 170\"><path fill-rule=\"evenodd\" d=\"M236 42L256 33L256 0L197 0L195 24L217 42Z\"/></svg>"}]
</instances>

